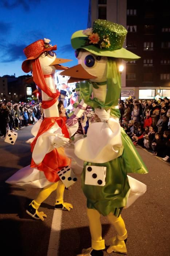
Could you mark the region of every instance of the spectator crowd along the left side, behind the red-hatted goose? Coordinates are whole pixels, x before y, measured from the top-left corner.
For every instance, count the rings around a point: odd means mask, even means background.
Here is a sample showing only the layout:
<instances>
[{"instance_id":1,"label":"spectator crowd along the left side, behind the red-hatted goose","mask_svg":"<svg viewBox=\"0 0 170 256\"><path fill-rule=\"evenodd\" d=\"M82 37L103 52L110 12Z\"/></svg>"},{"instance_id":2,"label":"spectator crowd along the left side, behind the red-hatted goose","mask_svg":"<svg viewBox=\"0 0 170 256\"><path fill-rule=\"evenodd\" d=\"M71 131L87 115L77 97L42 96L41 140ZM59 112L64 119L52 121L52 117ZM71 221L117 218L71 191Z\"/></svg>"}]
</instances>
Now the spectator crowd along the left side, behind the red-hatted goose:
<instances>
[{"instance_id":1,"label":"spectator crowd along the left side, behind the red-hatted goose","mask_svg":"<svg viewBox=\"0 0 170 256\"><path fill-rule=\"evenodd\" d=\"M1 103L0 104L0 136L5 137L8 129L19 130L35 124L41 118L39 104Z\"/></svg>"}]
</instances>

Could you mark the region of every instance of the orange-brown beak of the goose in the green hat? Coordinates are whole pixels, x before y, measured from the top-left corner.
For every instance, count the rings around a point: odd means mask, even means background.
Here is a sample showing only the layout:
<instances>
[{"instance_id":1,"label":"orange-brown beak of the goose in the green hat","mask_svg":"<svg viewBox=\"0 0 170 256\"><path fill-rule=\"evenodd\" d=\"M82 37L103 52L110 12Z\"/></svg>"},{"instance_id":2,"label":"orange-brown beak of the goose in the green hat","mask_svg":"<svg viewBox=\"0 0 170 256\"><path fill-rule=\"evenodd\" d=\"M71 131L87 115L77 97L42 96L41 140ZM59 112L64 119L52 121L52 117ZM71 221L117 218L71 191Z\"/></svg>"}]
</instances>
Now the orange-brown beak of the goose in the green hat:
<instances>
[{"instance_id":1,"label":"orange-brown beak of the goose in the green hat","mask_svg":"<svg viewBox=\"0 0 170 256\"><path fill-rule=\"evenodd\" d=\"M96 76L89 74L81 64L78 64L74 67L68 68L67 70L60 73L60 75L70 76L70 79L67 83L80 82L89 79L95 79Z\"/></svg>"}]
</instances>

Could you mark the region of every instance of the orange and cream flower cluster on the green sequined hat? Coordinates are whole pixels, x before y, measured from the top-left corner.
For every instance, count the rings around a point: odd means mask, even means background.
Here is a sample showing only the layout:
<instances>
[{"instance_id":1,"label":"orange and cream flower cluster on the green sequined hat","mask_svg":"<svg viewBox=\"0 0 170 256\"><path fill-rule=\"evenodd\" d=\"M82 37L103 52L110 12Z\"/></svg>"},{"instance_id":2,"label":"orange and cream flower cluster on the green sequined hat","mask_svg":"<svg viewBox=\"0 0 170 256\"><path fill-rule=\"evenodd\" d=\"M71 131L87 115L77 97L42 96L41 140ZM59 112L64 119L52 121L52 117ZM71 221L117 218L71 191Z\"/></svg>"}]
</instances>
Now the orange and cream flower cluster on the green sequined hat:
<instances>
[{"instance_id":1,"label":"orange and cream flower cluster on the green sequined hat","mask_svg":"<svg viewBox=\"0 0 170 256\"><path fill-rule=\"evenodd\" d=\"M100 38L98 33L93 33L92 27L83 30L83 34L88 36L89 41L86 41L86 45L98 45L100 49L109 48L111 46L109 36L103 35L103 38Z\"/></svg>"}]
</instances>

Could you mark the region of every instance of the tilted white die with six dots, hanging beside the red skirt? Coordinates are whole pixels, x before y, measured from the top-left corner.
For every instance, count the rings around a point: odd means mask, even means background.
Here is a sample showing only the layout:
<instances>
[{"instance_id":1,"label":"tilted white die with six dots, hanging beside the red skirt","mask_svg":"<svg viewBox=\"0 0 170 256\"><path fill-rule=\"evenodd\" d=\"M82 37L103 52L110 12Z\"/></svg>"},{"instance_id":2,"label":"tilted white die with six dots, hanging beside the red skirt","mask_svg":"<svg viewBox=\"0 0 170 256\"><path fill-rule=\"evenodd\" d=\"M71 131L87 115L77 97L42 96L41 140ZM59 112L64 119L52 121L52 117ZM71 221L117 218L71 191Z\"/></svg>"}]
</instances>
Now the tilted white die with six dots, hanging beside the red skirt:
<instances>
[{"instance_id":1,"label":"tilted white die with six dots, hanging beside the red skirt","mask_svg":"<svg viewBox=\"0 0 170 256\"><path fill-rule=\"evenodd\" d=\"M64 167L57 174L66 188L70 187L77 181L77 177L75 176L70 166Z\"/></svg>"}]
</instances>

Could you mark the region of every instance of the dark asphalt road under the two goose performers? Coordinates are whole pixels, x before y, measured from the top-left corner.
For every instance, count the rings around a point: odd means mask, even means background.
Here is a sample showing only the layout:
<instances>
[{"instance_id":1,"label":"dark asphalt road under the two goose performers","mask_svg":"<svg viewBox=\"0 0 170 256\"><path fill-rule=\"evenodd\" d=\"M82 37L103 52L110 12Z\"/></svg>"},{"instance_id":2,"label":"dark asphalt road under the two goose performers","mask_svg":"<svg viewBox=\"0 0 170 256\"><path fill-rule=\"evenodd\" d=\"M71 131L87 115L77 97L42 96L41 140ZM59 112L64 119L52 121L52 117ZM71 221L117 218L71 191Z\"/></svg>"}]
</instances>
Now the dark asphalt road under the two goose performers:
<instances>
[{"instance_id":1,"label":"dark asphalt road under the two goose performers","mask_svg":"<svg viewBox=\"0 0 170 256\"><path fill-rule=\"evenodd\" d=\"M47 256L55 192L41 204L40 210L47 214L47 219L42 222L32 219L25 212L39 189L25 189L5 183L13 173L30 164L30 146L24 142L32 137L30 130L31 127L25 127L18 131L18 139L13 146L0 139L0 244L1 249L5 250L2 255ZM137 150L149 173L130 174L147 185L147 192L122 212L128 231L128 255L169 255L170 165L140 147L137 147ZM75 256L82 248L91 245L86 199L81 190L80 178L70 191L65 190L64 201L72 203L74 208L70 212L62 213L58 256ZM114 236L115 230L110 226L107 218L101 217L101 221L103 238ZM104 252L104 255L108 254Z\"/></svg>"}]
</instances>

